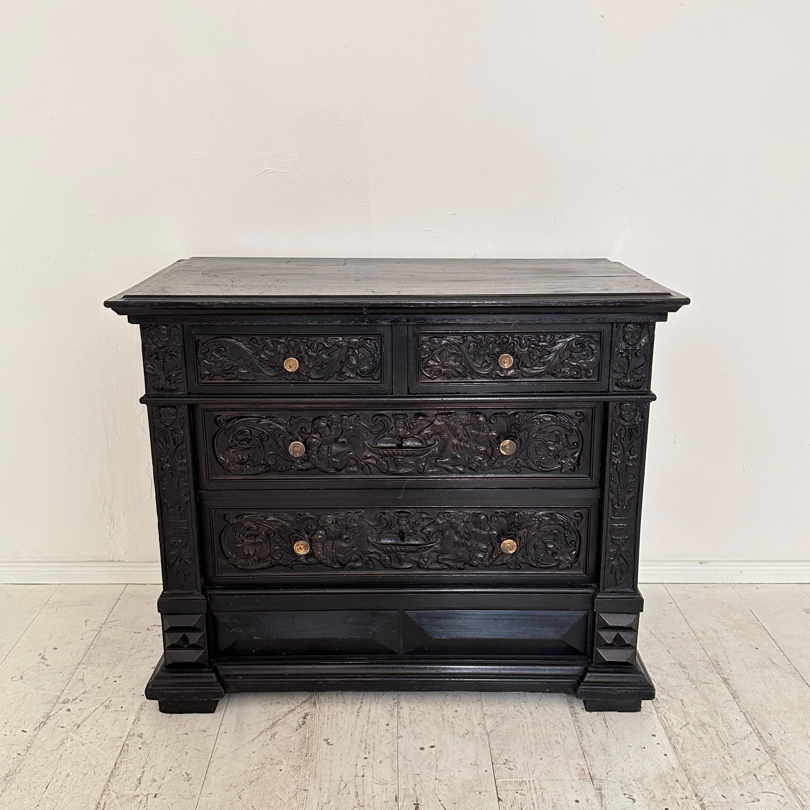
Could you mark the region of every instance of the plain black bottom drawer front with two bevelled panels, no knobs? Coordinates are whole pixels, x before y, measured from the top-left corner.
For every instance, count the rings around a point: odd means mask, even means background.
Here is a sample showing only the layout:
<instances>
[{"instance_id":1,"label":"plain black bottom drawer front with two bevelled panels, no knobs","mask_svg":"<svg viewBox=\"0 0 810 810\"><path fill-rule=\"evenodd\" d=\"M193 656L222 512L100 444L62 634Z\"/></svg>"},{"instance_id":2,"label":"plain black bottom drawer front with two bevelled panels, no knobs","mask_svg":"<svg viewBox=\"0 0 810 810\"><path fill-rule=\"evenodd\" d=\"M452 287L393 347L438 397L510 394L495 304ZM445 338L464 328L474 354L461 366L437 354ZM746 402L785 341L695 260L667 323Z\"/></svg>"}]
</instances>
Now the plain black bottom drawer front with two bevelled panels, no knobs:
<instances>
[{"instance_id":1,"label":"plain black bottom drawer front with two bevelled panels, no knobs","mask_svg":"<svg viewBox=\"0 0 810 810\"><path fill-rule=\"evenodd\" d=\"M214 599L213 601L217 601ZM215 654L584 655L590 595L357 594L220 597ZM262 604L263 603L263 604ZM238 608L238 609L234 609Z\"/></svg>"}]
</instances>

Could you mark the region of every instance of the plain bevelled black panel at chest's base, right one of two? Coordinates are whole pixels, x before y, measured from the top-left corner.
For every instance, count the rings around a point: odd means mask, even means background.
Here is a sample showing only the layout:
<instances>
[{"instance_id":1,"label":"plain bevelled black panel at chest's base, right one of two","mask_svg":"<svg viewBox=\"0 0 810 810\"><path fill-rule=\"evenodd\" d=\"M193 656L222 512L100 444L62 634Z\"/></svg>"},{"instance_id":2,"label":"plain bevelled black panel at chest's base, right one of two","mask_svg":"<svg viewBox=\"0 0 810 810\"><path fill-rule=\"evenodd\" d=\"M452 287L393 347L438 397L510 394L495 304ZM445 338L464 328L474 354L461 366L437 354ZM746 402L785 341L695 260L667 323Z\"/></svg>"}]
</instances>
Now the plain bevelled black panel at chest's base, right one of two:
<instances>
[{"instance_id":1,"label":"plain bevelled black panel at chest's base, right one of two","mask_svg":"<svg viewBox=\"0 0 810 810\"><path fill-rule=\"evenodd\" d=\"M586 611L419 610L403 612L403 651L456 655L584 655Z\"/></svg>"}]
</instances>

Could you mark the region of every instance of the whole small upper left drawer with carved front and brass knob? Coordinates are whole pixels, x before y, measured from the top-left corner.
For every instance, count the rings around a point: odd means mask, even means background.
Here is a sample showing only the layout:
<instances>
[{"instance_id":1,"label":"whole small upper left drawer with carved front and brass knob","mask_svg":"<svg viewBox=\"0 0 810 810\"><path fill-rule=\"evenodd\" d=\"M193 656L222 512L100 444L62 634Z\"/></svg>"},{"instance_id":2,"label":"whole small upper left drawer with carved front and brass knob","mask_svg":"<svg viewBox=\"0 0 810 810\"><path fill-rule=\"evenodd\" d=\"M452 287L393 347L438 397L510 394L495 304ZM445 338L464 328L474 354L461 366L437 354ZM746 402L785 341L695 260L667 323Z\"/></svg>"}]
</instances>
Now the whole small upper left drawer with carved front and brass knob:
<instances>
[{"instance_id":1,"label":"whole small upper left drawer with carved front and brass knob","mask_svg":"<svg viewBox=\"0 0 810 810\"><path fill-rule=\"evenodd\" d=\"M200 326L190 331L188 356L198 392L324 394L390 391L387 326Z\"/></svg>"}]
</instances>

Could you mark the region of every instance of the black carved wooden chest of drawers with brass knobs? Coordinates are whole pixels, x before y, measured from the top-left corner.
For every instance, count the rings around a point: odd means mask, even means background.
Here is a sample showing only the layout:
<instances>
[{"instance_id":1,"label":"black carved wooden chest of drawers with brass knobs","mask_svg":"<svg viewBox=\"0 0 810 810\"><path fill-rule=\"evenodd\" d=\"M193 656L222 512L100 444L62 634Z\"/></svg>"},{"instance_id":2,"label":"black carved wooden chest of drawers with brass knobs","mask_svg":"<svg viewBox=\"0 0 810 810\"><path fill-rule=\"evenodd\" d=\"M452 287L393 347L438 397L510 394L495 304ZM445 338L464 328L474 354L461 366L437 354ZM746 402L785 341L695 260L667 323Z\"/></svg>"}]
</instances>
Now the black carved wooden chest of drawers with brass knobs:
<instances>
[{"instance_id":1,"label":"black carved wooden chest of drawers with brass knobs","mask_svg":"<svg viewBox=\"0 0 810 810\"><path fill-rule=\"evenodd\" d=\"M147 697L498 689L638 710L656 322L604 259L192 258L141 326L164 590Z\"/></svg>"}]
</instances>

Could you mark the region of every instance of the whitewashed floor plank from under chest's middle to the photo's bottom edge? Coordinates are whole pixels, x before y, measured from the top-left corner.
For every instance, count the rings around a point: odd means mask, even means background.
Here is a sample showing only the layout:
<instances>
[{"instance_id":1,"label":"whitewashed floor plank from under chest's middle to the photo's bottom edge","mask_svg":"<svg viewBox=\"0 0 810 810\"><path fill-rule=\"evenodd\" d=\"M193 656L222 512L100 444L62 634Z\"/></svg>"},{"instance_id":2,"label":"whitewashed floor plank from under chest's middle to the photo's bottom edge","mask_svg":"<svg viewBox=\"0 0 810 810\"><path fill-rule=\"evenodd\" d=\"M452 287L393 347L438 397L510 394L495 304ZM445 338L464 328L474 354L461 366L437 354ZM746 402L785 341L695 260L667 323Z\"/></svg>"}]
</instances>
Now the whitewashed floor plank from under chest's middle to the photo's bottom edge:
<instances>
[{"instance_id":1,"label":"whitewashed floor plank from under chest's middle to the photo's bottom edge","mask_svg":"<svg viewBox=\"0 0 810 810\"><path fill-rule=\"evenodd\" d=\"M399 807L497 810L480 693L399 693Z\"/></svg>"}]
</instances>

